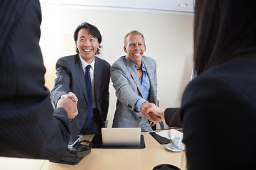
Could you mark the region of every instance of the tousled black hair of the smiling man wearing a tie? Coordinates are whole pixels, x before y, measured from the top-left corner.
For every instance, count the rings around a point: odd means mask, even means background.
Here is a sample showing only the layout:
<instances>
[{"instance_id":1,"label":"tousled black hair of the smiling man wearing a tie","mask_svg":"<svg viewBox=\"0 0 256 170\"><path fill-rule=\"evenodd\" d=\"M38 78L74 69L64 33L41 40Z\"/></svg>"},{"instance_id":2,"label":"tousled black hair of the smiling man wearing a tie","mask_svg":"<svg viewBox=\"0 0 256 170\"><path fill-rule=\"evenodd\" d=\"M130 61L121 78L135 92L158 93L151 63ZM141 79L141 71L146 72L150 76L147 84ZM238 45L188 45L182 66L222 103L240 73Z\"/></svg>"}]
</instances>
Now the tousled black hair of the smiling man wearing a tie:
<instances>
[{"instance_id":1,"label":"tousled black hair of the smiling man wearing a tie","mask_svg":"<svg viewBox=\"0 0 256 170\"><path fill-rule=\"evenodd\" d=\"M88 32L90 33L90 35L92 35L93 37L97 38L99 44L102 42L102 36L100 34L100 30L97 29L97 27L91 25L90 23L81 23L78 28L75 29L75 33L74 33L74 40L75 42L78 40L78 32L79 30L81 30L82 28L87 28ZM99 45L99 47L97 48L97 52L96 55L100 54L100 48L102 48L101 45ZM76 52L78 51L78 47L76 47Z\"/></svg>"}]
</instances>

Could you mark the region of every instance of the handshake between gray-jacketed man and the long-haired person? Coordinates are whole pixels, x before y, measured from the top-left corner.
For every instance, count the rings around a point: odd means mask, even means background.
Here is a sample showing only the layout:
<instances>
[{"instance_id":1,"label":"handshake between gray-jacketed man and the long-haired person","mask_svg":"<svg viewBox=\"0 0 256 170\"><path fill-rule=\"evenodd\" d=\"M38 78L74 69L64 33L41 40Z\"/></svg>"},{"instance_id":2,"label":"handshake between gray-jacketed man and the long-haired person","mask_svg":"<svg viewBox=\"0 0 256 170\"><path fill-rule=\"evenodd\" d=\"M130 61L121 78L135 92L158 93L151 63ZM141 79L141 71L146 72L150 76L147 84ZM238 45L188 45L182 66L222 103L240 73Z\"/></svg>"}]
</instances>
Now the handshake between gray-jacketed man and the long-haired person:
<instances>
[{"instance_id":1,"label":"handshake between gray-jacketed man and the long-haired person","mask_svg":"<svg viewBox=\"0 0 256 170\"><path fill-rule=\"evenodd\" d=\"M157 107L154 103L144 102L141 107L142 115L144 115L149 121L157 123L164 120L164 109Z\"/></svg>"}]
</instances>

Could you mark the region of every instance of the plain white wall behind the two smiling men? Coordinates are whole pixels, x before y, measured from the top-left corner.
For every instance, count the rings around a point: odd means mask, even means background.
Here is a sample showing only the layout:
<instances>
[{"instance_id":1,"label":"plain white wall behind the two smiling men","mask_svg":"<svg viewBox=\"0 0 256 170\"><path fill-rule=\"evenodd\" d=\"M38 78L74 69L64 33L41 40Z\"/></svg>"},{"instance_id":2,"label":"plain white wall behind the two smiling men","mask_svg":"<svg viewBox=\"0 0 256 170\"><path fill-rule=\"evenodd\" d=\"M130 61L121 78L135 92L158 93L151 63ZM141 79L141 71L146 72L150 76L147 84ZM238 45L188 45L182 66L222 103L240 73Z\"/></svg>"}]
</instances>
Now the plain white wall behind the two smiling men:
<instances>
[{"instance_id":1,"label":"plain white wall behind the two smiling men","mask_svg":"<svg viewBox=\"0 0 256 170\"><path fill-rule=\"evenodd\" d=\"M159 106L179 107L183 89L191 78L193 16L139 11L110 11L80 6L42 5L41 50L46 66L46 86L52 89L55 63L59 57L75 54L73 32L87 21L102 33L101 57L112 64L123 51L124 35L130 30L144 34L146 52L157 64ZM116 96L110 82L112 125Z\"/></svg>"}]
</instances>

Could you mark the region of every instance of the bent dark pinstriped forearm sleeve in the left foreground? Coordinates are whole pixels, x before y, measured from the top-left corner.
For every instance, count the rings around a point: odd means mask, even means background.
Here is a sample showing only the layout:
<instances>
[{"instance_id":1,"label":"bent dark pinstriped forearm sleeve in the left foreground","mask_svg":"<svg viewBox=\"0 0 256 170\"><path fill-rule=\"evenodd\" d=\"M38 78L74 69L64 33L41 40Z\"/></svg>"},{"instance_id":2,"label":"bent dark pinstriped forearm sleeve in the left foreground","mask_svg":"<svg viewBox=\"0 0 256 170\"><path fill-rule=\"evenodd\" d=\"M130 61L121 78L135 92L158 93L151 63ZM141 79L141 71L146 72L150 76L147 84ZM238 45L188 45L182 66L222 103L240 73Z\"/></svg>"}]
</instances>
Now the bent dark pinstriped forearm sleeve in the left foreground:
<instances>
[{"instance_id":1,"label":"bent dark pinstriped forearm sleeve in the left foreground","mask_svg":"<svg viewBox=\"0 0 256 170\"><path fill-rule=\"evenodd\" d=\"M0 155L34 159L63 157L70 137L70 119L65 110L58 108L53 118L48 96L33 106L17 102L16 106L18 108L1 107L1 115L8 115L1 123Z\"/></svg>"}]
</instances>

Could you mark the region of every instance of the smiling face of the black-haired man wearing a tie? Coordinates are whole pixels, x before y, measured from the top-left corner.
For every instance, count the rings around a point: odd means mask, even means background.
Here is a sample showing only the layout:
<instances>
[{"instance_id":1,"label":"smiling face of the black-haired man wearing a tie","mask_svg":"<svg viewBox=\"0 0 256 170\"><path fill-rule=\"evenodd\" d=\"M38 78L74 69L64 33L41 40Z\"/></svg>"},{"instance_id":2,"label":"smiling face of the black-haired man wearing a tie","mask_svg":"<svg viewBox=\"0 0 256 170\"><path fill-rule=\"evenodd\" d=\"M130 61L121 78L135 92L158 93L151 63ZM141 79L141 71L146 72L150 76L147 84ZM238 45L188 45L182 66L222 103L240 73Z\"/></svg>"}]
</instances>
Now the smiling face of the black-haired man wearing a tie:
<instances>
[{"instance_id":1,"label":"smiling face of the black-haired man wearing a tie","mask_svg":"<svg viewBox=\"0 0 256 170\"><path fill-rule=\"evenodd\" d=\"M100 44L97 38L89 34L87 28L82 28L78 32L78 40L75 42L75 45L78 47L82 59L90 64Z\"/></svg>"}]
</instances>

